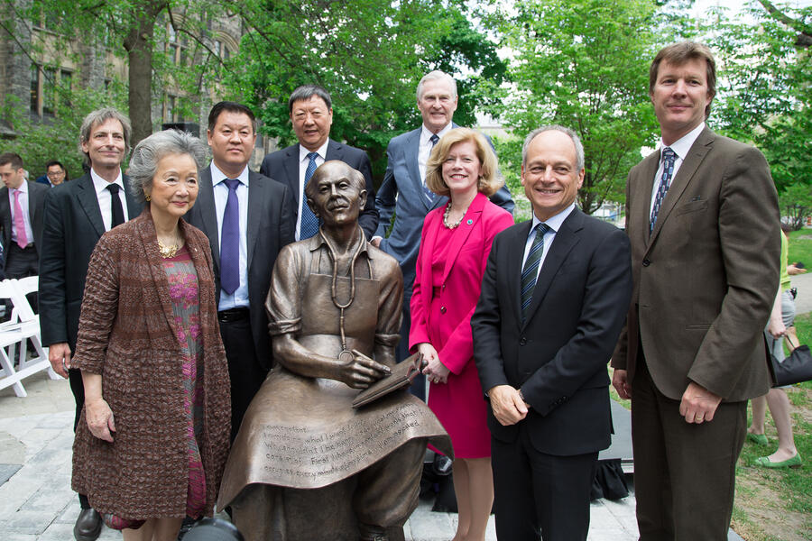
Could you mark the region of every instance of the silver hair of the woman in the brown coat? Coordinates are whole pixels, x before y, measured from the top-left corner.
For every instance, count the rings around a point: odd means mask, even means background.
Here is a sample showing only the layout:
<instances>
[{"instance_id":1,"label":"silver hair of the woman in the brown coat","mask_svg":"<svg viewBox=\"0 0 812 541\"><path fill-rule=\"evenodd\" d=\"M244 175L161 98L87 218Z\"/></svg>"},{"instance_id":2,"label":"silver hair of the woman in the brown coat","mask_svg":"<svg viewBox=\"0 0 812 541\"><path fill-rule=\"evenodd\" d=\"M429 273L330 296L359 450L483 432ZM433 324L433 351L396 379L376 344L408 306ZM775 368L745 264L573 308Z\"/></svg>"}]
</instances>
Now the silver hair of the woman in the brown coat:
<instances>
[{"instance_id":1,"label":"silver hair of the woman in the brown coat","mask_svg":"<svg viewBox=\"0 0 812 541\"><path fill-rule=\"evenodd\" d=\"M206 145L191 133L164 130L152 133L135 145L130 160L130 193L141 203L146 202L144 189L152 188L158 162L167 154L187 154L195 160L198 172L206 167Z\"/></svg>"}]
</instances>

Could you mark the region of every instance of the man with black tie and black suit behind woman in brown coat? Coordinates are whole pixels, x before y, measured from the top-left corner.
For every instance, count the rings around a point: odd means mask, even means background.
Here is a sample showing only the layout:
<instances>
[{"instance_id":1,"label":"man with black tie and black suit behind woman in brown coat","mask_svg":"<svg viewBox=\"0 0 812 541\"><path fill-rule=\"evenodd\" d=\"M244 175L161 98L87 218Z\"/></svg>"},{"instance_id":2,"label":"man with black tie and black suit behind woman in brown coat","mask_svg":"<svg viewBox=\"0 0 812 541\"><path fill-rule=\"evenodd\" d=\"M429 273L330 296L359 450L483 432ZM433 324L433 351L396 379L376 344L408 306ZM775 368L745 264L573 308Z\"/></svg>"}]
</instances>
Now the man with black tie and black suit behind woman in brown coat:
<instances>
[{"instance_id":1,"label":"man with black tie and black suit behind woman in brown coat","mask_svg":"<svg viewBox=\"0 0 812 541\"><path fill-rule=\"evenodd\" d=\"M40 332L49 346L48 360L60 376L68 378L76 399L76 418L85 402L81 372L69 369L76 349L78 318L88 275L90 254L98 239L115 225L139 215L142 206L129 193L129 179L121 164L130 150L130 120L113 108L98 109L85 117L79 148L89 172L45 195L42 252L40 255ZM101 531L101 518L79 494L81 512L73 528L78 541L93 541Z\"/></svg>"}]
</instances>

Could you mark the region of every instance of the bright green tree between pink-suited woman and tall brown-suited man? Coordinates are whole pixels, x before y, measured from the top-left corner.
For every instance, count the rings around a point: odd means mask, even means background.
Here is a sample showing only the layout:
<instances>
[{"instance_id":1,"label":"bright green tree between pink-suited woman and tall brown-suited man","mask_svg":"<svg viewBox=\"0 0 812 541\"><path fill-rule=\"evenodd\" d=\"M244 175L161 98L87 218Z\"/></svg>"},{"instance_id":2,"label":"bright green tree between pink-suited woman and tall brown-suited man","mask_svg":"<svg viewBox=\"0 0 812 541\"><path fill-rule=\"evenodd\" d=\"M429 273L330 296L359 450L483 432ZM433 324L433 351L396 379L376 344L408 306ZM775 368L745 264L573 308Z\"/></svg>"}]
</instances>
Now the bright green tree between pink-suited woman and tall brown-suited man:
<instances>
[{"instance_id":1,"label":"bright green tree between pink-suited woman and tall brown-suited man","mask_svg":"<svg viewBox=\"0 0 812 541\"><path fill-rule=\"evenodd\" d=\"M491 19L512 50L512 87L495 87L491 107L514 133L562 124L584 143L586 177L578 194L586 213L623 201L625 178L656 138L648 67L657 5L649 0L533 0ZM499 105L501 103L501 105ZM519 141L501 143L503 171L519 169ZM507 154L507 152L510 152Z\"/></svg>"}]
</instances>

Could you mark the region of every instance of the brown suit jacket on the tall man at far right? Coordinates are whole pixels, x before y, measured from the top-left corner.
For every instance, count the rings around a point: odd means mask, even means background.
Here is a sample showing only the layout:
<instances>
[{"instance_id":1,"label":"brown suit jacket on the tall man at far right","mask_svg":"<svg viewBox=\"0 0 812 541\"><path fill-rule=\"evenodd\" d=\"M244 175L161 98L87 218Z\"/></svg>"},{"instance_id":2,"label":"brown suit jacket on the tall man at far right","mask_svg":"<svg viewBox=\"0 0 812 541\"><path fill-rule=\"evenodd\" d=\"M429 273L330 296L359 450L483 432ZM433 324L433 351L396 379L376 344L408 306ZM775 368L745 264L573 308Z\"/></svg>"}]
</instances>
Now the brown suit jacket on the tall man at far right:
<instances>
[{"instance_id":1,"label":"brown suit jacket on the tall man at far right","mask_svg":"<svg viewBox=\"0 0 812 541\"><path fill-rule=\"evenodd\" d=\"M629 172L632 305L612 366L634 378L639 344L657 388L690 381L725 401L770 388L764 326L780 273L780 215L760 151L705 129L673 179L649 235L660 152Z\"/></svg>"}]
</instances>

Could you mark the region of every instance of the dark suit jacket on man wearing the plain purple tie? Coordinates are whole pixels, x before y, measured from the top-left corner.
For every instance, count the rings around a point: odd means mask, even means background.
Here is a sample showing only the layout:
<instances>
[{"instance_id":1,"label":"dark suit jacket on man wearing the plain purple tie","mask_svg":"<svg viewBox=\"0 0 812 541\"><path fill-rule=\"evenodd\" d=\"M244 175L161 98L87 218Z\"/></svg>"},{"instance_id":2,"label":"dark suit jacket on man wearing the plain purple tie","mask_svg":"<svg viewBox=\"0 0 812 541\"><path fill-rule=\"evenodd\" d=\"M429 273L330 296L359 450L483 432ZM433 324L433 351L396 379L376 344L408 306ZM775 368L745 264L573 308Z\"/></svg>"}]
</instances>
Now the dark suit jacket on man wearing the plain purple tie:
<instances>
[{"instance_id":1,"label":"dark suit jacket on man wearing the plain purple tie","mask_svg":"<svg viewBox=\"0 0 812 541\"><path fill-rule=\"evenodd\" d=\"M208 236L214 260L217 304L220 302L220 232L217 229L217 209L211 167L200 171L198 200L186 215L189 224ZM290 190L272 179L248 171L248 303L251 312L251 334L257 362L270 370L271 337L268 335L268 315L265 297L271 285L271 271L279 251L293 242L293 199Z\"/></svg>"}]
</instances>

